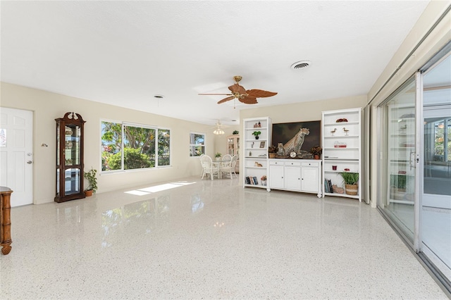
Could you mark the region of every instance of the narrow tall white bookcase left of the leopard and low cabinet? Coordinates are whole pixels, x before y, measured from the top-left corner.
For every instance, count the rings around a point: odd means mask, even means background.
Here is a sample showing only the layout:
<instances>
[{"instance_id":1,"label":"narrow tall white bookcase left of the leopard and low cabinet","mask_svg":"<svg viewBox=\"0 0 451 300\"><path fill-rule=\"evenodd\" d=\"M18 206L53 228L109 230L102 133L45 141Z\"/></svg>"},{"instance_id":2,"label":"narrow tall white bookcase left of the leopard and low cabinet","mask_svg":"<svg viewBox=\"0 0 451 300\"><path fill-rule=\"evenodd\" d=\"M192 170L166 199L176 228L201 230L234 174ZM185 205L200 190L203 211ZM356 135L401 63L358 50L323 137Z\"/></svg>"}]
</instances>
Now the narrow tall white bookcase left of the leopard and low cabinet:
<instances>
[{"instance_id":1,"label":"narrow tall white bookcase left of the leopard and low cabinet","mask_svg":"<svg viewBox=\"0 0 451 300\"><path fill-rule=\"evenodd\" d=\"M243 120L242 174L244 187L267 187L268 146L271 144L271 119ZM258 139L254 132L260 132Z\"/></svg>"}]
</instances>

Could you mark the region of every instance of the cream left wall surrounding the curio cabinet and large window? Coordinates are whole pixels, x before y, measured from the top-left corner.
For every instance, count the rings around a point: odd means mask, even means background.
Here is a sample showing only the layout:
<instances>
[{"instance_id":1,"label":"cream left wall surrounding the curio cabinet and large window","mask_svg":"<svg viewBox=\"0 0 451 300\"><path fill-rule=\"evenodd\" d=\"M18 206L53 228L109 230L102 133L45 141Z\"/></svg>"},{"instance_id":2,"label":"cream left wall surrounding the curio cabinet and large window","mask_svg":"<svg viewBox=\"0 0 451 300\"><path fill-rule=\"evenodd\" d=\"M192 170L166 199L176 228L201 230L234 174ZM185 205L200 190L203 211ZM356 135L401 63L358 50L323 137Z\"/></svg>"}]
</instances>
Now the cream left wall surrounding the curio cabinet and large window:
<instances>
[{"instance_id":1,"label":"cream left wall surrounding the curio cabinet and large window","mask_svg":"<svg viewBox=\"0 0 451 300\"><path fill-rule=\"evenodd\" d=\"M213 156L214 151L216 151L216 136L209 125L100 104L94 101L11 85L5 82L1 82L0 88L0 106L33 111L34 114L34 204L54 201L56 185L55 119L62 118L69 111L79 113L86 121L86 169L93 166L97 170L101 170L100 122L103 119L158 125L171 130L171 167L109 175L101 174L99 175L98 193L200 174L199 158L190 157L188 152L190 131L204 132L206 134L207 154ZM42 143L49 146L41 146Z\"/></svg>"}]
</instances>

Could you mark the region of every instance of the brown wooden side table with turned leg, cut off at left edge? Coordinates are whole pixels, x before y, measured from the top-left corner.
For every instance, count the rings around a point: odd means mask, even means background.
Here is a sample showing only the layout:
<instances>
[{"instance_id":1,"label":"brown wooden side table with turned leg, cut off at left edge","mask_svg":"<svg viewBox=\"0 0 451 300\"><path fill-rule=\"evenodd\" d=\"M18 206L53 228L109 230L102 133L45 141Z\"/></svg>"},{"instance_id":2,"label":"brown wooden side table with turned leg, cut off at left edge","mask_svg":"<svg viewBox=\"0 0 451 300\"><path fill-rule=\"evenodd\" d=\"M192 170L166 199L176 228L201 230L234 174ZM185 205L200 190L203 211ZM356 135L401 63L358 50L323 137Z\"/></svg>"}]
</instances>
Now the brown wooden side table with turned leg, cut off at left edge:
<instances>
[{"instance_id":1,"label":"brown wooden side table with turned leg, cut off at left edge","mask_svg":"<svg viewBox=\"0 0 451 300\"><path fill-rule=\"evenodd\" d=\"M11 251L11 194L9 187L0 187L0 246L1 253L6 255Z\"/></svg>"}]
</instances>

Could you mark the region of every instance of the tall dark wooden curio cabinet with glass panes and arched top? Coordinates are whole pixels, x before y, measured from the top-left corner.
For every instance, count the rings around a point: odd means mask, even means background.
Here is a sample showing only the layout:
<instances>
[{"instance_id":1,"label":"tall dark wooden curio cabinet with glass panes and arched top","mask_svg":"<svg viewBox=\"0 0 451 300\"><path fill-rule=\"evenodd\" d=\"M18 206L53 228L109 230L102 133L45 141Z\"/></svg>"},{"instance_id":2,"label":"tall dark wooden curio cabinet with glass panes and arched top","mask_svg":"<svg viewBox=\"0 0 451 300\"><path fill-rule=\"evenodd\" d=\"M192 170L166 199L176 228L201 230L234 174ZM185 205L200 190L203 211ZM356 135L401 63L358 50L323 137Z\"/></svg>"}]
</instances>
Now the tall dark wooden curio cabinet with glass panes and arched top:
<instances>
[{"instance_id":1,"label":"tall dark wooden curio cabinet with glass panes and arched top","mask_svg":"<svg viewBox=\"0 0 451 300\"><path fill-rule=\"evenodd\" d=\"M75 117L76 116L76 117ZM78 113L56 120L56 202L85 198L83 190L83 127Z\"/></svg>"}]
</instances>

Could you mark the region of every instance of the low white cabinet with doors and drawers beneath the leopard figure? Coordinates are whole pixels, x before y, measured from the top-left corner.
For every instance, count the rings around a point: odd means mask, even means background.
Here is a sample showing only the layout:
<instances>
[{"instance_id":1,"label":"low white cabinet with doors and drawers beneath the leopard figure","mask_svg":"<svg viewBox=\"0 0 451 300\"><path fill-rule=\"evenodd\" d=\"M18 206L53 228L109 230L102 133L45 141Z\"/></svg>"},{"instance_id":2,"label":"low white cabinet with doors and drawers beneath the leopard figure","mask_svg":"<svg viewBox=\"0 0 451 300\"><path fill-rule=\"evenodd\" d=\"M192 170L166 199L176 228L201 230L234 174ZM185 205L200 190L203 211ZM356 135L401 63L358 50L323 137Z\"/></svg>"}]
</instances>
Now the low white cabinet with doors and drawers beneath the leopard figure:
<instances>
[{"instance_id":1,"label":"low white cabinet with doors and drawers beneath the leopard figure","mask_svg":"<svg viewBox=\"0 0 451 300\"><path fill-rule=\"evenodd\" d=\"M310 159L269 159L271 189L307 192L321 197L321 161Z\"/></svg>"}]
</instances>

